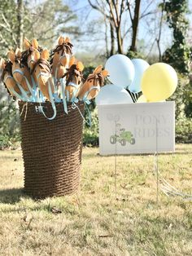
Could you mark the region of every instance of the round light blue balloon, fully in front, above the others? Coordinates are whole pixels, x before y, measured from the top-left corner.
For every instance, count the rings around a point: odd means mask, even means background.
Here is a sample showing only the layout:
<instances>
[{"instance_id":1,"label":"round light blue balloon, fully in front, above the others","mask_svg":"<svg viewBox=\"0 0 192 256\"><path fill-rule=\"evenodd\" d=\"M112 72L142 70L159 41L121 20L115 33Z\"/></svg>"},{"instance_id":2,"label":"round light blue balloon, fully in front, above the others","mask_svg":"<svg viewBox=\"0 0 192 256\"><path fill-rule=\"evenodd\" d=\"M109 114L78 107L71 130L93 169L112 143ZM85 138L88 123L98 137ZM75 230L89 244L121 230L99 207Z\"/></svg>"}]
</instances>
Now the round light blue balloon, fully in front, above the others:
<instances>
[{"instance_id":1,"label":"round light blue balloon, fully in front, above the others","mask_svg":"<svg viewBox=\"0 0 192 256\"><path fill-rule=\"evenodd\" d=\"M125 88L133 82L134 66L125 55L112 55L106 62L109 80L113 84Z\"/></svg>"}]
</instances>

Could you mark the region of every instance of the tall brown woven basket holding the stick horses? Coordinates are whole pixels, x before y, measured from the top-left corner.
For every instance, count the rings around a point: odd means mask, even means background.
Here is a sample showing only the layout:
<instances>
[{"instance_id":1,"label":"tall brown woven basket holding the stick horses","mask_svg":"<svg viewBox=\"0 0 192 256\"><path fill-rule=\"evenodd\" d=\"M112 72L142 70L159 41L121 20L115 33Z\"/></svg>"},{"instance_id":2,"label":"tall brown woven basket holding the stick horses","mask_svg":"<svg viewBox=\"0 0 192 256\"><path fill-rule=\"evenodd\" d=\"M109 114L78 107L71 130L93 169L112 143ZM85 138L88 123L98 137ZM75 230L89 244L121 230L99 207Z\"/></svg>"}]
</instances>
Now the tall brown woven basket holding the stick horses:
<instances>
[{"instance_id":1,"label":"tall brown woven basket holding the stick horses","mask_svg":"<svg viewBox=\"0 0 192 256\"><path fill-rule=\"evenodd\" d=\"M20 102L24 192L35 198L63 196L76 192L80 183L83 119L77 108L56 104L57 116L49 121L37 113L36 103ZM49 102L41 104L47 117L53 115ZM84 113L84 104L77 104Z\"/></svg>"}]
</instances>

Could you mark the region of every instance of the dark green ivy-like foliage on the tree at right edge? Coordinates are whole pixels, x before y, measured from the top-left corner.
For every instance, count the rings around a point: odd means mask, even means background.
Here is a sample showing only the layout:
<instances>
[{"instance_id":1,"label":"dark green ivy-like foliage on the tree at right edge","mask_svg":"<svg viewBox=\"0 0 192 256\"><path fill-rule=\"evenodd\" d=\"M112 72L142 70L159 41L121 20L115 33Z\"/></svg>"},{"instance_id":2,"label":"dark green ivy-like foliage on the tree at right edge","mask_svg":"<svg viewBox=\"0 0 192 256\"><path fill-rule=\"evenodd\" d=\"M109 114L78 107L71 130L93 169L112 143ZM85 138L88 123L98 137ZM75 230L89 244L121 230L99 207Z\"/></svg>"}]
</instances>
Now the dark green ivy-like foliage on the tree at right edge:
<instances>
[{"instance_id":1,"label":"dark green ivy-like foliage on the tree at right edge","mask_svg":"<svg viewBox=\"0 0 192 256\"><path fill-rule=\"evenodd\" d=\"M189 73L192 48L187 45L185 39L189 28L189 21L185 18L188 12L188 1L169 0L165 2L164 10L167 13L169 28L173 29L173 43L164 52L163 60L180 73Z\"/></svg>"}]
</instances>

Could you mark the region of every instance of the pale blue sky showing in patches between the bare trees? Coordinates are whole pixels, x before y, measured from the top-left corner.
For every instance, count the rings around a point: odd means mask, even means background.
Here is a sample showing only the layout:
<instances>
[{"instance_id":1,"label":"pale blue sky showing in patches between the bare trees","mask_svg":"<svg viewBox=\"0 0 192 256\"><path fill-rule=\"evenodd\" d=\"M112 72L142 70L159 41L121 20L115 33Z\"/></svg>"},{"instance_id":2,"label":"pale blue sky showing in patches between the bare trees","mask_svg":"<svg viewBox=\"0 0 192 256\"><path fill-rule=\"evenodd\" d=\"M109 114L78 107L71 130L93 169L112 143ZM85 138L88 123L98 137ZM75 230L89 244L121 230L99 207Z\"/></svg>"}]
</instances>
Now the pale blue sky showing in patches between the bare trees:
<instances>
[{"instance_id":1,"label":"pale blue sky showing in patches between the bare trees","mask_svg":"<svg viewBox=\"0 0 192 256\"><path fill-rule=\"evenodd\" d=\"M142 0L142 7L141 7L141 13L143 10L146 9L146 1L150 2L150 0ZM94 2L94 0L92 0ZM154 1L156 2L156 1ZM86 25L91 20L97 20L101 15L98 11L93 10L89 6L89 2L87 0L63 0L63 3L67 3L73 11L75 11L78 14L78 23L81 25L81 29L85 30ZM151 8L153 9L155 6L153 6L153 3L151 5ZM189 7L190 11L192 11L192 0L189 1ZM149 9L150 10L150 9ZM153 18L153 20L152 20ZM147 51L151 51L151 44L155 41L155 37L153 32L149 32L149 27L155 28L155 26L158 26L159 24L159 16L158 17L149 17L147 18L147 22L143 19L141 23L139 24L138 29L138 37L137 39L140 40L141 43L145 41L145 51L147 55ZM190 24L192 27L192 15L189 15ZM95 27L97 27L97 24L94 24ZM96 28L97 30L97 28ZM76 46L76 51L98 51L100 52L104 45L104 31L102 31L102 27L100 24L98 24L98 37L94 33L91 37L84 37L84 42L75 40L74 44ZM164 24L162 29L162 38L161 38L161 48L162 51L164 51L169 45L172 43L172 31L168 29L168 25ZM126 38L124 42L124 48L128 48L130 44L130 33L129 37ZM154 46L152 48L152 52L157 52L157 46L154 43Z\"/></svg>"}]
</instances>

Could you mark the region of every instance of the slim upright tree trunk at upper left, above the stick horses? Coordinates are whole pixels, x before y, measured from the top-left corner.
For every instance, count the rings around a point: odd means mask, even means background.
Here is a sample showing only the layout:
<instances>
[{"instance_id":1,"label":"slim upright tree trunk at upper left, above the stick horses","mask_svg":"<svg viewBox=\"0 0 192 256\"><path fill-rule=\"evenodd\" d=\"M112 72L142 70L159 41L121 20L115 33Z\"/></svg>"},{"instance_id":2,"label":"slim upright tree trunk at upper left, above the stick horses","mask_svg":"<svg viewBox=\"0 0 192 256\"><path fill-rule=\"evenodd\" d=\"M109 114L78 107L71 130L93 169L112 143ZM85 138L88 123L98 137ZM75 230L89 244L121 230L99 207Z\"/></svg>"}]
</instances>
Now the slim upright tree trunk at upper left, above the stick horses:
<instances>
[{"instance_id":1,"label":"slim upright tree trunk at upper left, above the stick horses","mask_svg":"<svg viewBox=\"0 0 192 256\"><path fill-rule=\"evenodd\" d=\"M24 2L23 0L17 0L17 22L18 22L17 45L22 51L22 46L24 41Z\"/></svg>"}]
</instances>

